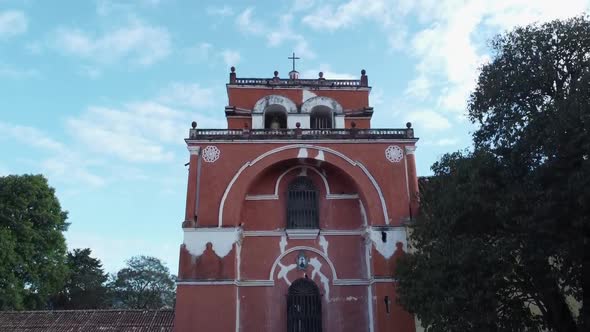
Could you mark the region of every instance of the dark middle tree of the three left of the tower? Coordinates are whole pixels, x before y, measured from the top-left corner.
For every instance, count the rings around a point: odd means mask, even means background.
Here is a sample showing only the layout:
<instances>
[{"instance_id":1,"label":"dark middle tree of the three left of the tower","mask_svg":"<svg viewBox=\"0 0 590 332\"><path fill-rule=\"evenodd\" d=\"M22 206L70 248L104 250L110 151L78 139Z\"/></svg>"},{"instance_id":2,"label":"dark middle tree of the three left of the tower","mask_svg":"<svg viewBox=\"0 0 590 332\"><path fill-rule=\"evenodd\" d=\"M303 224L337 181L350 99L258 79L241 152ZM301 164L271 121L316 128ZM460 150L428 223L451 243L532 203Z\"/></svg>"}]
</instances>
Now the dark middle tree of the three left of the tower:
<instances>
[{"instance_id":1,"label":"dark middle tree of the three left of the tower","mask_svg":"<svg viewBox=\"0 0 590 332\"><path fill-rule=\"evenodd\" d=\"M100 309L109 306L107 274L91 250L74 249L67 256L69 268L63 290L54 298L54 309Z\"/></svg>"}]
</instances>

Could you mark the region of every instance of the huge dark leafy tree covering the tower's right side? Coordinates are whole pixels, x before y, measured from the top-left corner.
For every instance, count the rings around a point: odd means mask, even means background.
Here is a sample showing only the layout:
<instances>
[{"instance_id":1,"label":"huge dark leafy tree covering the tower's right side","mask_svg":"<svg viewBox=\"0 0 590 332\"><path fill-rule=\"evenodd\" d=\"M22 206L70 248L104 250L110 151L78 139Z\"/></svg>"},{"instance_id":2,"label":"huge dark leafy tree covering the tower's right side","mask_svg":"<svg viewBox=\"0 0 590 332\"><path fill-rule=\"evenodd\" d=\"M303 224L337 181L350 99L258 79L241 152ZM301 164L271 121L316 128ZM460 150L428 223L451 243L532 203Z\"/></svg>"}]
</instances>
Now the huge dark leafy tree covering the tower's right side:
<instances>
[{"instance_id":1,"label":"huge dark leafy tree covering the tower's right side","mask_svg":"<svg viewBox=\"0 0 590 332\"><path fill-rule=\"evenodd\" d=\"M400 301L429 331L590 331L590 21L492 47L468 105L474 152L421 188Z\"/></svg>"}]
</instances>

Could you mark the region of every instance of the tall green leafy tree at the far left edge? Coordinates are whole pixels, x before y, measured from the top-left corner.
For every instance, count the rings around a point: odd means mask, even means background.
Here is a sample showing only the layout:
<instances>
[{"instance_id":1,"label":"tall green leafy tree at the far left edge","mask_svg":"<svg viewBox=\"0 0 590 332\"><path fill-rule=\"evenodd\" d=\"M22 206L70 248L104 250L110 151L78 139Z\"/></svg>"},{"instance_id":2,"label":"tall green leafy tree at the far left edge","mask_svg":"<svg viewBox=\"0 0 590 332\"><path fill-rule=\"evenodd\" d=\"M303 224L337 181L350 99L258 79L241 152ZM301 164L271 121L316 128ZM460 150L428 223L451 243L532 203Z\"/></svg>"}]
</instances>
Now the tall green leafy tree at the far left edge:
<instances>
[{"instance_id":1,"label":"tall green leafy tree at the far left edge","mask_svg":"<svg viewBox=\"0 0 590 332\"><path fill-rule=\"evenodd\" d=\"M0 309L39 309L67 273L67 212L42 175L0 177Z\"/></svg>"}]
</instances>

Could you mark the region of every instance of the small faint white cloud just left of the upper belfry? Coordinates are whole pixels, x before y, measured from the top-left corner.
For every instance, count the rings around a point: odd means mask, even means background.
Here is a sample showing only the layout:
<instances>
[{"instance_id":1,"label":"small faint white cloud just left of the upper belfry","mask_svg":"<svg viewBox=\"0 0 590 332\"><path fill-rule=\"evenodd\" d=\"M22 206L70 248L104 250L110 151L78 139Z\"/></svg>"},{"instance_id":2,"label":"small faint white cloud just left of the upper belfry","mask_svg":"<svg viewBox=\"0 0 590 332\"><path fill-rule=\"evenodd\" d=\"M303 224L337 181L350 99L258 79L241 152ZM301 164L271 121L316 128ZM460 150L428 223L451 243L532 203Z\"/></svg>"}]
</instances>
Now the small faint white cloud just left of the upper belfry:
<instances>
[{"instance_id":1,"label":"small faint white cloud just left of the upper belfry","mask_svg":"<svg viewBox=\"0 0 590 332\"><path fill-rule=\"evenodd\" d=\"M213 89L190 83L170 84L162 90L158 100L168 105L197 109L215 106Z\"/></svg>"}]
</instances>

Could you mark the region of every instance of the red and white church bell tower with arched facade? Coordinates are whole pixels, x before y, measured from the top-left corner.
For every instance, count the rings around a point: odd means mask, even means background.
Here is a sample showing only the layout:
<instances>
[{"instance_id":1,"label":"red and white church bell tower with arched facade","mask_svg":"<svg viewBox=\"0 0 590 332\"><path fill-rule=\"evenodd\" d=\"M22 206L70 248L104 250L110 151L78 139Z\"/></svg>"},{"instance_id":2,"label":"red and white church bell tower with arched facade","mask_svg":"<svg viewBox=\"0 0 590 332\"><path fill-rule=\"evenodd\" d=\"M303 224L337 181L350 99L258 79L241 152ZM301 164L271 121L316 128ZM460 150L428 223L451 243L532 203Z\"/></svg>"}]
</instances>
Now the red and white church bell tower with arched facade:
<instances>
[{"instance_id":1,"label":"red and white church bell tower with arched facade","mask_svg":"<svg viewBox=\"0 0 590 332\"><path fill-rule=\"evenodd\" d=\"M417 138L372 128L368 76L231 68L227 128L190 154L176 331L415 331L396 259L418 209Z\"/></svg>"}]
</instances>

